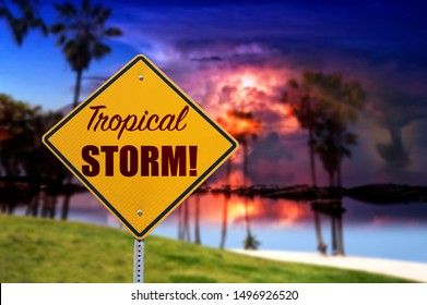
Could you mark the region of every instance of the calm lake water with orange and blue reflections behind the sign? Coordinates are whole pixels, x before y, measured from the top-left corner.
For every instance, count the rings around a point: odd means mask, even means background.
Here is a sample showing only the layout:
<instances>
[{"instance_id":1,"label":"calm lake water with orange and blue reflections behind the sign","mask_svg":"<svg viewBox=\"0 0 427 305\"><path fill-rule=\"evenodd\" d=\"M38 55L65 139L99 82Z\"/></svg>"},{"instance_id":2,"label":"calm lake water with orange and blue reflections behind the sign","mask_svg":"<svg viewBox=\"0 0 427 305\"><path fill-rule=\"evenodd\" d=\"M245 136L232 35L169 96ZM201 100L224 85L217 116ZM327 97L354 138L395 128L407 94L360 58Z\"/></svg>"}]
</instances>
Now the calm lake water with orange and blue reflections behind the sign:
<instances>
[{"instance_id":1,"label":"calm lake water with orange and blue reflections behind the sign","mask_svg":"<svg viewBox=\"0 0 427 305\"><path fill-rule=\"evenodd\" d=\"M120 227L88 193L72 198L70 220ZM154 233L221 248L319 251L427 263L427 204L342 202L194 194Z\"/></svg>"}]
</instances>

